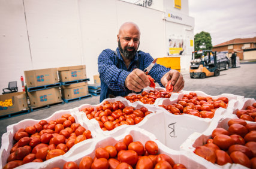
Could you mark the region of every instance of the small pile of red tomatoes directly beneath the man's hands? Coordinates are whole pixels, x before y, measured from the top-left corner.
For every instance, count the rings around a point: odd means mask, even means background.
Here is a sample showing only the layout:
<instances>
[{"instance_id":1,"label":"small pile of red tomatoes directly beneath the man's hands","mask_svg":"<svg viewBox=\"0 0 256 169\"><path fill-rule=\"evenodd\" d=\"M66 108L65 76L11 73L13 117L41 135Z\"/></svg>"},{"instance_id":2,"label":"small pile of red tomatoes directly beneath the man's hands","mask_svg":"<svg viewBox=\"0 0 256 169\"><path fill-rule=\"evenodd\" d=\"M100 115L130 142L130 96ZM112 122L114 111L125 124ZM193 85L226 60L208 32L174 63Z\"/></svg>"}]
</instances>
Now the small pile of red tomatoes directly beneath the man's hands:
<instances>
[{"instance_id":1,"label":"small pile of red tomatoes directly beneath the man's hands","mask_svg":"<svg viewBox=\"0 0 256 169\"><path fill-rule=\"evenodd\" d=\"M141 95L125 96L130 102L140 101L144 104L154 104L157 98L170 98L171 93L165 90L149 90L149 92L143 91Z\"/></svg>"}]
</instances>

